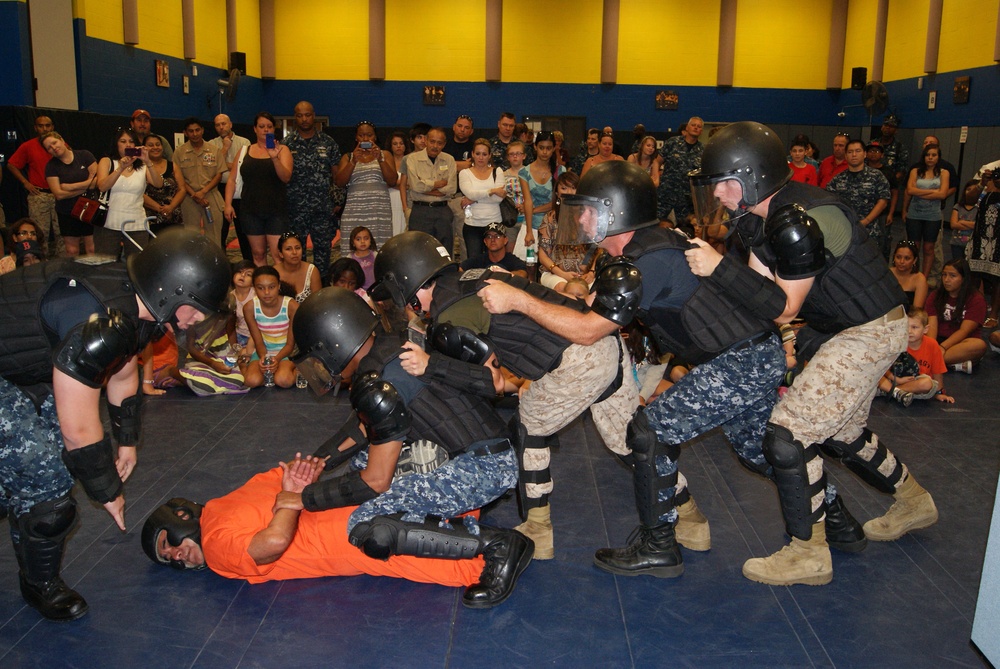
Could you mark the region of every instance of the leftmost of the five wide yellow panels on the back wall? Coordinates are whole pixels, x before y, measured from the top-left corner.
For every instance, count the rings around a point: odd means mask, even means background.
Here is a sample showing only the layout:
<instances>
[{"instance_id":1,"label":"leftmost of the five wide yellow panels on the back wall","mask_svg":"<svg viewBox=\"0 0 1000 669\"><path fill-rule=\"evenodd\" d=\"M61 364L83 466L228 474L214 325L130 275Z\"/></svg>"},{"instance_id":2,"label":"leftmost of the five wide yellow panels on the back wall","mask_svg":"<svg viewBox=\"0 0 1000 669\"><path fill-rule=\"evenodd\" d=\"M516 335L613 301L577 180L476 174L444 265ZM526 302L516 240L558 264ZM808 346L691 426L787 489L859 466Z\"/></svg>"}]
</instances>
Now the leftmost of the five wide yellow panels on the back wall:
<instances>
[{"instance_id":1,"label":"leftmost of the five wide yellow panels on the back wall","mask_svg":"<svg viewBox=\"0 0 1000 669\"><path fill-rule=\"evenodd\" d=\"M278 0L274 4L278 79L368 78L367 2Z\"/></svg>"}]
</instances>

